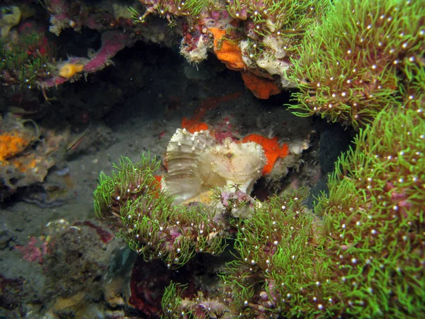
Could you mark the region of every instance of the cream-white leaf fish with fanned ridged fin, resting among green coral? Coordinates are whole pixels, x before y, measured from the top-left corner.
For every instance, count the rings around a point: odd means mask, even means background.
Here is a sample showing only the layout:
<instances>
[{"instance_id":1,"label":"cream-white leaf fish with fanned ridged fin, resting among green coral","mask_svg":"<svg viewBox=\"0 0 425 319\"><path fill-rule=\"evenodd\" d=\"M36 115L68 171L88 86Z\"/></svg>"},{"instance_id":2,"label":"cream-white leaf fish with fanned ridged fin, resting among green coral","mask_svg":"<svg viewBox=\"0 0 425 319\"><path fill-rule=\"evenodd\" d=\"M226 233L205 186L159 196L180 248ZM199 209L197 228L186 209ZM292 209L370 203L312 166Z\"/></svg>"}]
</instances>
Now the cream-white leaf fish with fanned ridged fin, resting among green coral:
<instances>
[{"instance_id":1,"label":"cream-white leaf fish with fanned ridged fin, resting among green coral","mask_svg":"<svg viewBox=\"0 0 425 319\"><path fill-rule=\"evenodd\" d=\"M178 129L167 147L166 164L162 188L176 196L175 203L181 203L209 189L228 189L235 184L249 194L261 177L266 157L255 142L226 139L220 144L208 130L192 134Z\"/></svg>"}]
</instances>

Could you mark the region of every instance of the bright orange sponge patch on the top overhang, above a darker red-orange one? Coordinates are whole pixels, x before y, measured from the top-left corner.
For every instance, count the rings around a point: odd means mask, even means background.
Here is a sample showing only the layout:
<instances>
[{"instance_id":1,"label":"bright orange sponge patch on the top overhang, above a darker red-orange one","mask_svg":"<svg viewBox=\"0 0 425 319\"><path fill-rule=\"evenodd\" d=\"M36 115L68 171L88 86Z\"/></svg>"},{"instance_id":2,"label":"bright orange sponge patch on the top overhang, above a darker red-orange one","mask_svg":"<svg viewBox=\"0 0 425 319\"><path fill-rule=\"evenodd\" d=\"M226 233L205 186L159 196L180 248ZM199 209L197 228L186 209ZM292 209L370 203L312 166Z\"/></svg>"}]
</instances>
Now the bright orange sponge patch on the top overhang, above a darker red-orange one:
<instances>
[{"instance_id":1,"label":"bright orange sponge patch on the top overhang, above a darker red-orange one","mask_svg":"<svg viewBox=\"0 0 425 319\"><path fill-rule=\"evenodd\" d=\"M214 35L214 52L218 60L223 62L228 69L235 71L244 69L245 63L242 60L242 51L239 46L231 40L222 39L226 30L219 28L210 28L209 30Z\"/></svg>"}]
</instances>

